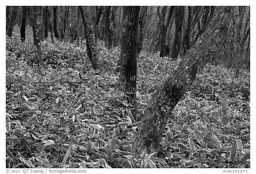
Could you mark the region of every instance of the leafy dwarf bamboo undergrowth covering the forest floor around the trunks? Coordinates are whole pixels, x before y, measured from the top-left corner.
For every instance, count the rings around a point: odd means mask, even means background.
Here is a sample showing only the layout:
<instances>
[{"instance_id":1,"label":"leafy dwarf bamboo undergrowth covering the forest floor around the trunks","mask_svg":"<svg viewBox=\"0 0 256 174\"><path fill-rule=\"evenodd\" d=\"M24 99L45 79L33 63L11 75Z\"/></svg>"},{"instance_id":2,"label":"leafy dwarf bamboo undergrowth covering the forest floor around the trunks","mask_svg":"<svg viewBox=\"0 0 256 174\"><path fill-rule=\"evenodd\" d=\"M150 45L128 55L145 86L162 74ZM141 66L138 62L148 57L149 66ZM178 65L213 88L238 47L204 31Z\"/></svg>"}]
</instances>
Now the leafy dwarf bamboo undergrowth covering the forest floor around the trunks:
<instances>
[{"instance_id":1,"label":"leafy dwarf bamboo undergrowth covering the forest floor around the trunks","mask_svg":"<svg viewBox=\"0 0 256 174\"><path fill-rule=\"evenodd\" d=\"M141 162L130 153L144 110L180 59L140 53L134 116L118 90L120 47L99 42L99 71L84 44L47 40L39 71L32 39L16 35L6 38L6 167L250 167L249 70L234 78L208 64L170 115L157 157Z\"/></svg>"}]
</instances>

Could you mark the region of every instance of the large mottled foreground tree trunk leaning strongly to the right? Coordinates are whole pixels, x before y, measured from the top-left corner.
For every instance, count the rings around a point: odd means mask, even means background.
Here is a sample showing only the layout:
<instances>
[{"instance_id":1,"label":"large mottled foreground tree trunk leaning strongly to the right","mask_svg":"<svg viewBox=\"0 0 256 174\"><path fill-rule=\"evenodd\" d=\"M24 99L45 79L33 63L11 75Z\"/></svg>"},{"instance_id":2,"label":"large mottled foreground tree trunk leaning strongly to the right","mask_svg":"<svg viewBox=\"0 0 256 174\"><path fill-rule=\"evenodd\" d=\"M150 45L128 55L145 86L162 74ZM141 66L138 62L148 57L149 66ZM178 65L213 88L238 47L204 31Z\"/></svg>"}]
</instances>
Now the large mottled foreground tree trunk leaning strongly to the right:
<instances>
[{"instance_id":1,"label":"large mottled foreground tree trunk leaning strongly to the right","mask_svg":"<svg viewBox=\"0 0 256 174\"><path fill-rule=\"evenodd\" d=\"M145 155L158 152L165 125L173 108L223 45L230 14L230 7L219 7L196 44L187 51L179 66L154 93L132 146L134 158L144 159Z\"/></svg>"}]
</instances>

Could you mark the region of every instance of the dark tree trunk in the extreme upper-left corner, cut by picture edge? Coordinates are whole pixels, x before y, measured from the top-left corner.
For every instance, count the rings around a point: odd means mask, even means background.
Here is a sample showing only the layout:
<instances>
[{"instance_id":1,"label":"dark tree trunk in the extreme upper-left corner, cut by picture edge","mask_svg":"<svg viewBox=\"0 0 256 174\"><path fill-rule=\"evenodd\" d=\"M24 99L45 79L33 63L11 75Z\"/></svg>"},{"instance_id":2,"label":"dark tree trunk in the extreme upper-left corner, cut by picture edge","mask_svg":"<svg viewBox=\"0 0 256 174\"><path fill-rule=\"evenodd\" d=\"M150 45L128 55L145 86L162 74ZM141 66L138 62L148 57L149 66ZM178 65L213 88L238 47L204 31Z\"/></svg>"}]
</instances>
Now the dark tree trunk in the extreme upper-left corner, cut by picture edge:
<instances>
[{"instance_id":1,"label":"dark tree trunk in the extreme upper-left corner, cut by picture edge","mask_svg":"<svg viewBox=\"0 0 256 174\"><path fill-rule=\"evenodd\" d=\"M6 35L8 35L9 37L12 36L13 27L16 22L16 17L18 14L18 8L19 6L12 6L12 8L7 9L7 12L9 12L9 14L6 13ZM10 12L12 12L12 14L10 14Z\"/></svg>"}]
</instances>

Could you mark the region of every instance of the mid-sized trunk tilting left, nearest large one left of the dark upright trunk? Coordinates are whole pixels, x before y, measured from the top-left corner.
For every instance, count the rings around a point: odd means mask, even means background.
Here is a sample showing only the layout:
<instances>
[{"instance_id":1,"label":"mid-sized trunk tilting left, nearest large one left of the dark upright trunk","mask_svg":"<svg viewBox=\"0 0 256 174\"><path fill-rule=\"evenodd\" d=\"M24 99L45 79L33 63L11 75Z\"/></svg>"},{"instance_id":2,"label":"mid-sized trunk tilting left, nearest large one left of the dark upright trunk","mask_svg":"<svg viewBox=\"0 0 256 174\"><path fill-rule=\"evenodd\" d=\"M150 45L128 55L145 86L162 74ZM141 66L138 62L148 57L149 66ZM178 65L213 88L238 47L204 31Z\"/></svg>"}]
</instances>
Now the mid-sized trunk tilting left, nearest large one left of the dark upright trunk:
<instances>
[{"instance_id":1,"label":"mid-sized trunk tilting left, nearest large one left of the dark upright trunk","mask_svg":"<svg viewBox=\"0 0 256 174\"><path fill-rule=\"evenodd\" d=\"M99 62L99 55L96 46L96 40L93 34L92 29L92 21L90 20L90 15L88 12L88 7L85 7L83 10L82 6L79 6L79 10L81 12L81 16L84 23L84 33L86 38L86 48L87 48L87 55L92 62L92 67L94 70L101 69L100 62Z\"/></svg>"}]
</instances>

